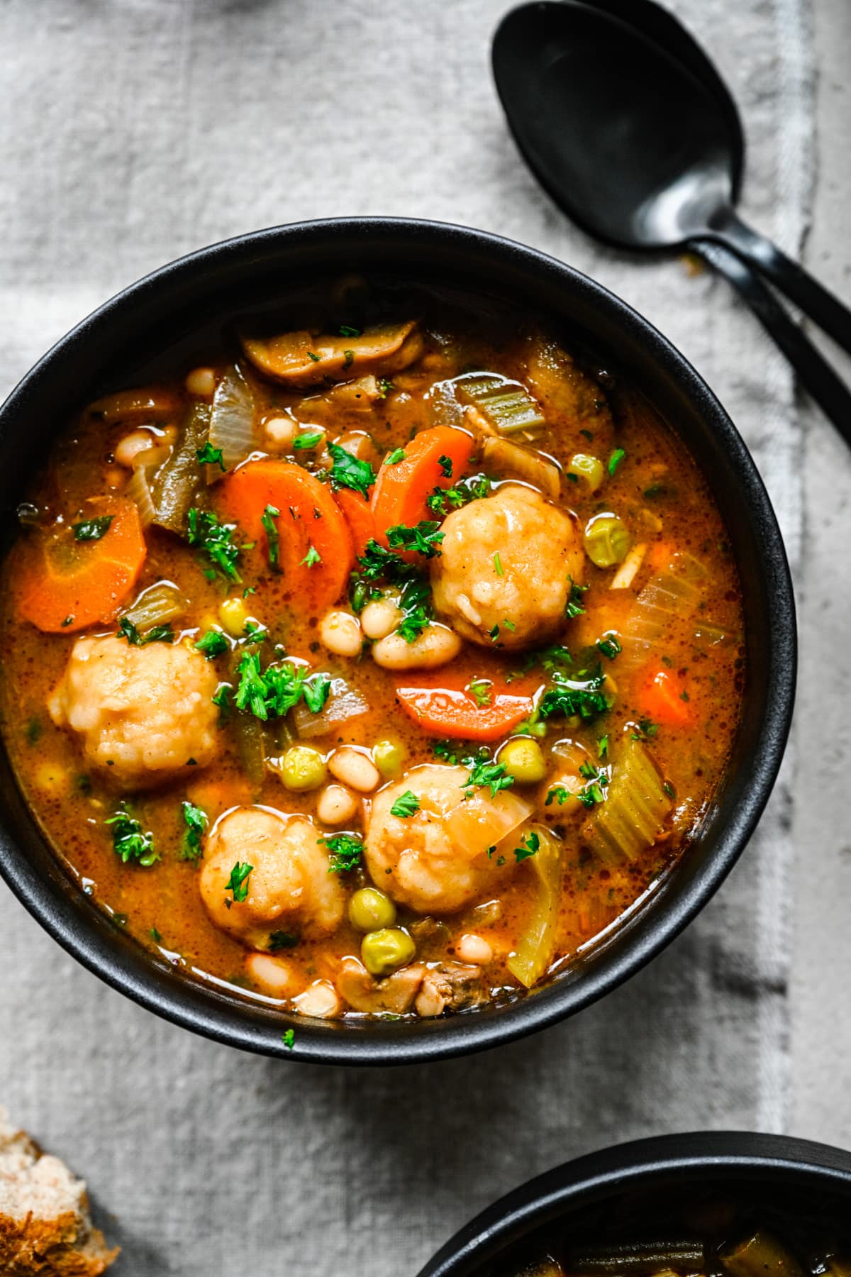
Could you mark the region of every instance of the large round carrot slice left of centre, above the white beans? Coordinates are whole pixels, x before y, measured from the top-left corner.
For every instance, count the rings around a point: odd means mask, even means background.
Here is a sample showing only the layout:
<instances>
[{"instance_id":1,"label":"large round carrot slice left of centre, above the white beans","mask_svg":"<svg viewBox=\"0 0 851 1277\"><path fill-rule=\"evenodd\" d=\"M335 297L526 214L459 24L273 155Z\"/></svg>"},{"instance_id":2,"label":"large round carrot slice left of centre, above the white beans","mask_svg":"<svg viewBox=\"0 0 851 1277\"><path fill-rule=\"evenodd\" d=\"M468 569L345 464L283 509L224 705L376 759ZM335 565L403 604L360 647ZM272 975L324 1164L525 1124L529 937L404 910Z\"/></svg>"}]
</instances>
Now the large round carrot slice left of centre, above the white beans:
<instances>
[{"instance_id":1,"label":"large round carrot slice left of centre, above the white beans","mask_svg":"<svg viewBox=\"0 0 851 1277\"><path fill-rule=\"evenodd\" d=\"M249 461L217 485L216 501L255 543L249 554L273 601L299 600L320 609L339 599L355 555L348 524L325 484L292 461ZM272 516L278 533L274 566L263 526L268 506L278 511Z\"/></svg>"}]
</instances>

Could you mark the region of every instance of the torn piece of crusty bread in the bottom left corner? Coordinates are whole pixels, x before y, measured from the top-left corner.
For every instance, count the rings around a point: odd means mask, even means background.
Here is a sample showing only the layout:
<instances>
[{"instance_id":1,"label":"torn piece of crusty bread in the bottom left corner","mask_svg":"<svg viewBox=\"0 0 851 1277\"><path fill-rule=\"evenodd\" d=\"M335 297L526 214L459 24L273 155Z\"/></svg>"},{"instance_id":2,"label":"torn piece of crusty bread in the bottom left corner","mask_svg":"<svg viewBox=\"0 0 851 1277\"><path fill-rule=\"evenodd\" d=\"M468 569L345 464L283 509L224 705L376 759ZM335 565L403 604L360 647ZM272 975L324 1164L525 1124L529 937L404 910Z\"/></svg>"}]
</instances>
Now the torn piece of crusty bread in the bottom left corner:
<instances>
[{"instance_id":1,"label":"torn piece of crusty bread in the bottom left corner","mask_svg":"<svg viewBox=\"0 0 851 1277\"><path fill-rule=\"evenodd\" d=\"M83 1180L10 1126L0 1107L0 1273L97 1277L116 1255L92 1226Z\"/></svg>"}]
</instances>

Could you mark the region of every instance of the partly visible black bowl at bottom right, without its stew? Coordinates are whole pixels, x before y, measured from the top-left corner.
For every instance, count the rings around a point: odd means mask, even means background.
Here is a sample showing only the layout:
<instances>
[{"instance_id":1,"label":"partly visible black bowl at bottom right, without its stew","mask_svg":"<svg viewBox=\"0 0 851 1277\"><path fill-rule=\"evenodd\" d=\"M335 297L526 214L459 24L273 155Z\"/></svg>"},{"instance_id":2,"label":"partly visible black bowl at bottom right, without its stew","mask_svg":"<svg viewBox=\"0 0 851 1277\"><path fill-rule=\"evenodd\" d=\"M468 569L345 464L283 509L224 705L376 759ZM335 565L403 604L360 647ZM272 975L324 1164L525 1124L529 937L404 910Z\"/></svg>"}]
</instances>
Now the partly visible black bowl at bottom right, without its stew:
<instances>
[{"instance_id":1,"label":"partly visible black bowl at bottom right, without its stew","mask_svg":"<svg viewBox=\"0 0 851 1277\"><path fill-rule=\"evenodd\" d=\"M786 1135L700 1131L616 1144L556 1166L507 1194L441 1246L418 1277L490 1277L501 1263L546 1246L563 1228L588 1228L597 1209L618 1218L621 1200L717 1186L720 1195L790 1194L791 1214L825 1207L851 1220L851 1153ZM601 1239L602 1240L602 1239ZM527 1260L537 1258L527 1251Z\"/></svg>"}]
</instances>

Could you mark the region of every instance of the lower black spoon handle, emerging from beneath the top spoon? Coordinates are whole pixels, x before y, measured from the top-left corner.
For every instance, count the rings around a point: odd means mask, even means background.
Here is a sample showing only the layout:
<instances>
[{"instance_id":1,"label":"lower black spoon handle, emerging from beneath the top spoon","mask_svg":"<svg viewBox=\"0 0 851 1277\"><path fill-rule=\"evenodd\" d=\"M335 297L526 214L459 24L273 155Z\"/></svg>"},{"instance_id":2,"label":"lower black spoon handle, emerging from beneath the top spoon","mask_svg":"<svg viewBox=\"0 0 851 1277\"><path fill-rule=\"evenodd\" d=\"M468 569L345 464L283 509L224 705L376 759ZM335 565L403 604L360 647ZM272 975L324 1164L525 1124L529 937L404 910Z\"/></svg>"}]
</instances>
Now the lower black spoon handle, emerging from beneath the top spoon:
<instances>
[{"instance_id":1,"label":"lower black spoon handle, emerging from beneath the top spoon","mask_svg":"<svg viewBox=\"0 0 851 1277\"><path fill-rule=\"evenodd\" d=\"M774 338L797 373L801 386L851 446L851 391L834 373L806 333L790 318L771 289L735 253L717 244L700 244L699 252L737 290L763 328Z\"/></svg>"}]
</instances>

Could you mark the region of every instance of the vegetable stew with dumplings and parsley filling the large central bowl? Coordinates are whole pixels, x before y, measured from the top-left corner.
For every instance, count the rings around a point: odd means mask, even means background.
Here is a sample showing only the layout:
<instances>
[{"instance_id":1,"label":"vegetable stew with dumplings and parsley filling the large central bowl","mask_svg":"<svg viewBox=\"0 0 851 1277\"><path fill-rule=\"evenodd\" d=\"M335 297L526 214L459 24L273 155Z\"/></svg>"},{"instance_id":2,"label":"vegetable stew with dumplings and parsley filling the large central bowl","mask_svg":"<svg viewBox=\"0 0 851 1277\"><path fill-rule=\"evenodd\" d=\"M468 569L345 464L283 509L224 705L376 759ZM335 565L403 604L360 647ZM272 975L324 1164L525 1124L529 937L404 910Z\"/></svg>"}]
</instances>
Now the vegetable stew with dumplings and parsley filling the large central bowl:
<instances>
[{"instance_id":1,"label":"vegetable stew with dumplings and parsley filling the large central bowl","mask_svg":"<svg viewBox=\"0 0 851 1277\"><path fill-rule=\"evenodd\" d=\"M435 1016L671 871L744 686L707 487L524 317L364 281L91 404L19 508L4 734L83 889L199 978Z\"/></svg>"}]
</instances>

